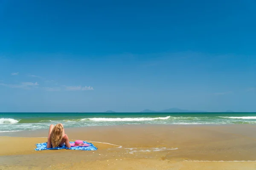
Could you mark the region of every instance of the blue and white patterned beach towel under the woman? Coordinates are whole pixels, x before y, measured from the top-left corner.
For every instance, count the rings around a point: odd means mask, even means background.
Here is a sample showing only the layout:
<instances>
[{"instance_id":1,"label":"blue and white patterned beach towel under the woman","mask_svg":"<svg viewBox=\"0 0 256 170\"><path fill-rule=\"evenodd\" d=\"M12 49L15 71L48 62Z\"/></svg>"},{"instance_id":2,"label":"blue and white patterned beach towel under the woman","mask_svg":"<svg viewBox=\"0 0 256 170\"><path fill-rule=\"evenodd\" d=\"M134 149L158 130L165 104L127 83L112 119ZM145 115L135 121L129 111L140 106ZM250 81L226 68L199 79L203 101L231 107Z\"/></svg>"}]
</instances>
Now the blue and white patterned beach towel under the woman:
<instances>
[{"instance_id":1,"label":"blue and white patterned beach towel under the woman","mask_svg":"<svg viewBox=\"0 0 256 170\"><path fill-rule=\"evenodd\" d=\"M75 142L70 142L70 143L75 143ZM55 150L55 149L70 149L70 150L97 150L98 148L95 147L92 143L85 142L86 144L90 144L90 146L79 146L79 147L66 147L66 145L63 145L61 147L54 147L54 148L47 148L47 142L45 143L39 143L35 144L37 148L35 150Z\"/></svg>"}]
</instances>

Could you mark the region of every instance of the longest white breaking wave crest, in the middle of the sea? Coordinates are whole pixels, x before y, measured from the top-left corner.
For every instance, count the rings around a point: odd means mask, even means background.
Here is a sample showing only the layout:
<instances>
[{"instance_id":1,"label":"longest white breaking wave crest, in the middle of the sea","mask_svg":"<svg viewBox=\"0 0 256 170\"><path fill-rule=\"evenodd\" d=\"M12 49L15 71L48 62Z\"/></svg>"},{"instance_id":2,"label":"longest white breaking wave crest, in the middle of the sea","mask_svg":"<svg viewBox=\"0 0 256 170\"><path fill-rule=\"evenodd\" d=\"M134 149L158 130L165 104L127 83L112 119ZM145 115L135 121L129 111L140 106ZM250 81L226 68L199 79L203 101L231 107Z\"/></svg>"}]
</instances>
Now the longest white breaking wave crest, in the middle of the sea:
<instances>
[{"instance_id":1,"label":"longest white breaking wave crest, in the middle of the sea","mask_svg":"<svg viewBox=\"0 0 256 170\"><path fill-rule=\"evenodd\" d=\"M90 121L104 121L104 122L133 122L133 121L149 121L149 120L166 120L169 119L171 116L166 117L155 117L155 118L148 118L148 117L127 117L127 118L85 118L81 120L90 120Z\"/></svg>"}]
</instances>

